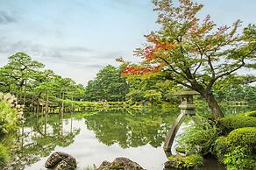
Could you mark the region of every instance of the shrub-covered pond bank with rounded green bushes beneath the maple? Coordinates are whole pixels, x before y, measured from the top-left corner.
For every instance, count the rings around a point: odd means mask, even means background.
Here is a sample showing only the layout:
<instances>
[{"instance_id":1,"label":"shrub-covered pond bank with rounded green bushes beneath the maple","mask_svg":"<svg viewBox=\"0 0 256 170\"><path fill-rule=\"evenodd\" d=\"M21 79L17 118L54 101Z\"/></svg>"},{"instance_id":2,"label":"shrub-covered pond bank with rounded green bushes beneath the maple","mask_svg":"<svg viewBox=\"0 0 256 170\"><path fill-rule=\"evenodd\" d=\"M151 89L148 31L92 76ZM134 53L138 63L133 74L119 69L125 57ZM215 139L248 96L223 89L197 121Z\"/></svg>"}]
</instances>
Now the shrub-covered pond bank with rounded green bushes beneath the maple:
<instances>
[{"instance_id":1,"label":"shrub-covered pond bank with rounded green bushes beneath the maple","mask_svg":"<svg viewBox=\"0 0 256 170\"><path fill-rule=\"evenodd\" d=\"M194 124L179 138L178 152L169 157L167 167L188 168L203 165L205 155L213 155L228 170L254 170L256 167L256 110L226 116L215 121L193 117Z\"/></svg>"}]
</instances>

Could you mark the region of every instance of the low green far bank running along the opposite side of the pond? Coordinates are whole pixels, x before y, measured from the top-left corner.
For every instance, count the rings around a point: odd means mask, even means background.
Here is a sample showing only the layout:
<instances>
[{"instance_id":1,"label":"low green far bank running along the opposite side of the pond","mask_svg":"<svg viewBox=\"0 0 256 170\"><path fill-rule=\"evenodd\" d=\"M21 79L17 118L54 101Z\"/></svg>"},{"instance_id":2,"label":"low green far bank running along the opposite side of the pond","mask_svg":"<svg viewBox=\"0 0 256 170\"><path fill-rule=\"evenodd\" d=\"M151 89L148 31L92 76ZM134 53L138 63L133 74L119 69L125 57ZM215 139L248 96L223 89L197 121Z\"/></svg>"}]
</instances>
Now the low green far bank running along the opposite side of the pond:
<instances>
[{"instance_id":1,"label":"low green far bank running along the opposite side of the pond","mask_svg":"<svg viewBox=\"0 0 256 170\"><path fill-rule=\"evenodd\" d=\"M27 108L28 112L33 112L38 115L47 113L69 113L69 112L97 112L101 110L145 110L158 108L160 110L170 110L170 108L178 108L179 103L169 103L161 101L159 103L150 102L84 102L55 99L58 105L47 105L46 103L39 104L39 109ZM203 100L196 100L196 112L200 115L210 114L210 109L207 103ZM225 115L238 114L247 110L256 110L256 104L246 103L245 105L229 105L228 103L220 103Z\"/></svg>"}]
</instances>

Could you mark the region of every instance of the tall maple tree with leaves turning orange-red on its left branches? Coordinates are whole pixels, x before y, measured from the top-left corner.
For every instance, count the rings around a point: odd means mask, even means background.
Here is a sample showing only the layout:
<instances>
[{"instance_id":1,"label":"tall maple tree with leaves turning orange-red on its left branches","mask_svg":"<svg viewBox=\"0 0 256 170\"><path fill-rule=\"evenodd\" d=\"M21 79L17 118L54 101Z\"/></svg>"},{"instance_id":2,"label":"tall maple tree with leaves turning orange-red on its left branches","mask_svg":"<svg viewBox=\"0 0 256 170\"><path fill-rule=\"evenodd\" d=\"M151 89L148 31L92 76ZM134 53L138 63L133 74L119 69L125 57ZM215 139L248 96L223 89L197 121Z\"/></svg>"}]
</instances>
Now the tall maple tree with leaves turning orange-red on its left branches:
<instances>
[{"instance_id":1,"label":"tall maple tree with leaves turning orange-red on its left branches","mask_svg":"<svg viewBox=\"0 0 256 170\"><path fill-rule=\"evenodd\" d=\"M153 4L161 28L146 35L146 45L135 50L143 61L126 64L122 73L162 74L199 92L214 116L224 117L212 88L216 81L236 76L242 67L255 68L256 26L249 25L239 35L239 20L232 26L217 27L210 15L197 18L203 4L190 0L179 0L177 5L171 0L153 0ZM250 79L255 81L255 76Z\"/></svg>"}]
</instances>

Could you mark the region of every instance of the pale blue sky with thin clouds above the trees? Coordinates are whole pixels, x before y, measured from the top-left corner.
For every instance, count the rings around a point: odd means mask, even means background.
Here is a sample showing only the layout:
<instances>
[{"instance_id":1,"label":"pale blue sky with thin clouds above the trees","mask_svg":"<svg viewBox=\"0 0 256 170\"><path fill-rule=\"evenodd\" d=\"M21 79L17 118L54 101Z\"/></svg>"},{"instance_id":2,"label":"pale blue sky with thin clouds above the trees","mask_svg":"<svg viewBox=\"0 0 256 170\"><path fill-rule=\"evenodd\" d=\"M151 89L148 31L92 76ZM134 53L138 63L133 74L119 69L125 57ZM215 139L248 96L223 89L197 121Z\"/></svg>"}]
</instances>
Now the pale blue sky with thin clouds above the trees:
<instances>
[{"instance_id":1,"label":"pale blue sky with thin clouds above the trees","mask_svg":"<svg viewBox=\"0 0 256 170\"><path fill-rule=\"evenodd\" d=\"M175 0L174 0L175 1ZM256 21L256 0L196 0L217 25ZM0 0L0 67L28 53L56 74L86 85L115 59L138 61L135 48L159 28L151 0Z\"/></svg>"}]
</instances>

